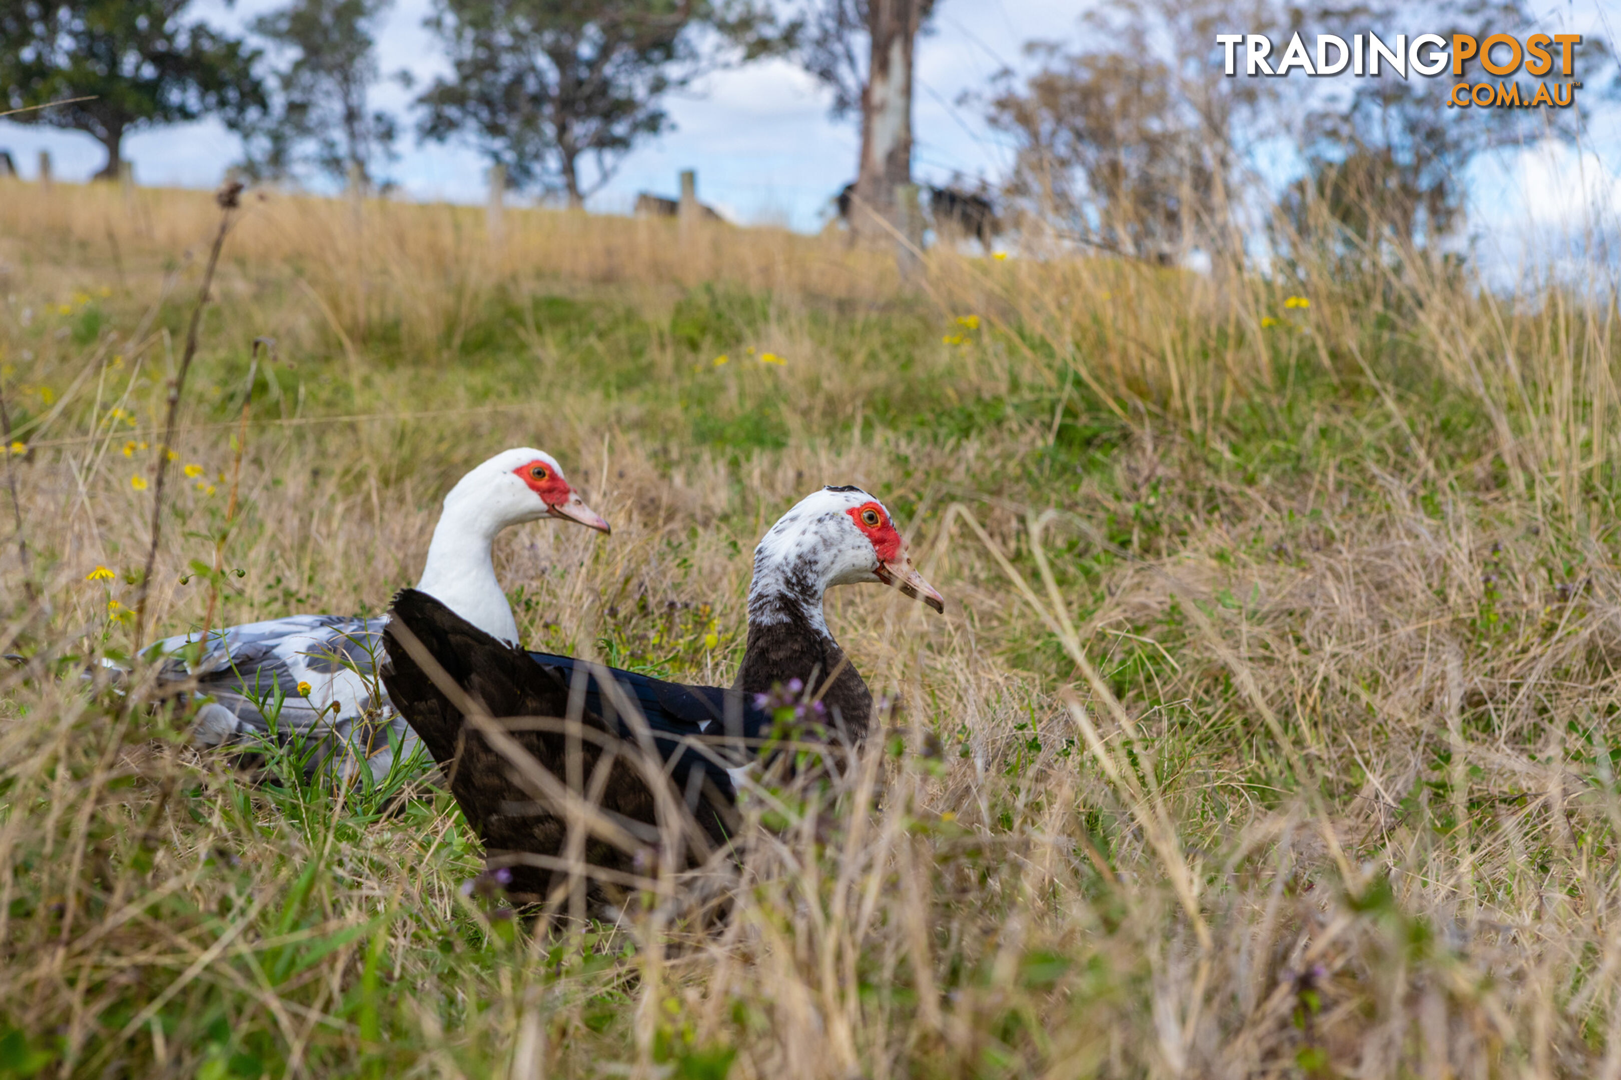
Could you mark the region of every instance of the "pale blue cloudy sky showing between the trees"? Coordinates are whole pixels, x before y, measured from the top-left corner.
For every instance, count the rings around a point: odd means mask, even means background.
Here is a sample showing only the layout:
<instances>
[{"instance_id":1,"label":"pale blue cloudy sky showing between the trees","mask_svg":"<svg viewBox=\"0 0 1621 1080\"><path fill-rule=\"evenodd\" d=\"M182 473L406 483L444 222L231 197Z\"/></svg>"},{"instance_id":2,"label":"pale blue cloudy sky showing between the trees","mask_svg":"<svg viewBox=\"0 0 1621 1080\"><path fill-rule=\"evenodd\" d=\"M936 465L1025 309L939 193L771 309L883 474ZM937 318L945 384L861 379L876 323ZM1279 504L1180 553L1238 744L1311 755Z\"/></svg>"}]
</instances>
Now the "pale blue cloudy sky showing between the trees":
<instances>
[{"instance_id":1,"label":"pale blue cloudy sky showing between the trees","mask_svg":"<svg viewBox=\"0 0 1621 1080\"><path fill-rule=\"evenodd\" d=\"M280 0L196 0L195 11L222 28L240 29ZM417 86L441 71L434 39L423 29L431 0L396 0L379 37L384 71L408 70ZM1545 32L1577 31L1615 40L1613 0L1533 0ZM958 104L984 91L1002 68L1023 66L1033 39L1075 42L1089 0L940 0L932 32L917 47L916 172L924 181L953 173L995 180L1012 159L1003 136L981 110ZM1235 26L1234 31L1247 28ZM1415 32L1423 28L1415 28ZM1511 28L1517 34L1527 28ZM1597 86L1585 91L1592 94ZM410 94L394 83L378 89L378 104L407 112ZM627 212L637 191L676 193L681 168L699 170L699 194L738 222L776 222L810 230L827 214L830 196L854 173L858 133L827 115L828 97L802 71L765 62L705 78L669 100L674 130L631 154L614 180L592 198L592 209ZM1621 102L1600 110L1587 147L1532 146L1482 162L1473 176L1475 228L1503 241L1527 223L1571 227L1595 207L1621 207ZM405 125L408 130L408 123ZM49 149L60 176L88 176L102 164L101 147L83 134L0 121L0 149L10 149L24 176ZM125 157L148 185L212 186L235 159L235 139L219 125L198 123L131 136ZM1284 154L1268 165L1281 185L1292 164ZM413 146L392 170L417 199L478 201L483 164L456 146Z\"/></svg>"}]
</instances>

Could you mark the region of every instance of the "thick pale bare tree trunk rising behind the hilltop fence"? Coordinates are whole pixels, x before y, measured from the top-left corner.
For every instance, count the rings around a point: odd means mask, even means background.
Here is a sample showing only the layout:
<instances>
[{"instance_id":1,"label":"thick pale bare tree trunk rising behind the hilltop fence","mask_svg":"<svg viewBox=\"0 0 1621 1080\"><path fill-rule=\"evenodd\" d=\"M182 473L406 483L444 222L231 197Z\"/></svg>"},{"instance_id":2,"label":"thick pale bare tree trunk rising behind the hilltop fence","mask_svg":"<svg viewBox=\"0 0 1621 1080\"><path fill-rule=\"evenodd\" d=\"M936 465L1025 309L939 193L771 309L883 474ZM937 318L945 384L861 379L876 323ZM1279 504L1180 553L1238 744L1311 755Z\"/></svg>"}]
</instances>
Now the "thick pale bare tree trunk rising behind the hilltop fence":
<instances>
[{"instance_id":1,"label":"thick pale bare tree trunk rising behind the hilltop fence","mask_svg":"<svg viewBox=\"0 0 1621 1080\"><path fill-rule=\"evenodd\" d=\"M887 238L882 214L905 232L895 188L911 183L913 44L930 0L872 0L872 63L861 96L861 164L851 227L858 236Z\"/></svg>"}]
</instances>

